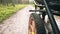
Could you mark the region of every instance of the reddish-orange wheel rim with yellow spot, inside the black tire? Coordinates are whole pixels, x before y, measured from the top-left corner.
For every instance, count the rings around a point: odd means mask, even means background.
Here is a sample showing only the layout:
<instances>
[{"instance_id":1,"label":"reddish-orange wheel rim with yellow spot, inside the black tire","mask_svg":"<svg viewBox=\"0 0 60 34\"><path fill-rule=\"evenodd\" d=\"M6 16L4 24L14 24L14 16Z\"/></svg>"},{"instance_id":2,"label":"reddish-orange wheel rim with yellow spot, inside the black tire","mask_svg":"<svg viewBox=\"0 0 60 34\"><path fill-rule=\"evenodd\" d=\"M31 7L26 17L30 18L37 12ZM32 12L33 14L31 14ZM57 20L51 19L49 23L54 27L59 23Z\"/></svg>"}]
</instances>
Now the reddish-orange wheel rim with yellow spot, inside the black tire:
<instances>
[{"instance_id":1,"label":"reddish-orange wheel rim with yellow spot, inside the black tire","mask_svg":"<svg viewBox=\"0 0 60 34\"><path fill-rule=\"evenodd\" d=\"M29 34L36 34L35 21L33 17L29 18Z\"/></svg>"}]
</instances>

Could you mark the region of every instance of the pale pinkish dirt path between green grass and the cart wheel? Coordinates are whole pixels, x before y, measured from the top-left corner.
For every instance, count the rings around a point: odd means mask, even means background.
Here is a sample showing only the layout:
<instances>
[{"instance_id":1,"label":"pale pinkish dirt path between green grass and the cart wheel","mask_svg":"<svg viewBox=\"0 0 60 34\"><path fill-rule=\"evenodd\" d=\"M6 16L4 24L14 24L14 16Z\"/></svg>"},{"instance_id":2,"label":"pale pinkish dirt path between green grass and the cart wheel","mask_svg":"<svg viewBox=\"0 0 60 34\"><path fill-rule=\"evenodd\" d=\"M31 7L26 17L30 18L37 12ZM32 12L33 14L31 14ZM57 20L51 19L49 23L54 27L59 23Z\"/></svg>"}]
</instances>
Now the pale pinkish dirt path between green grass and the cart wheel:
<instances>
[{"instance_id":1,"label":"pale pinkish dirt path between green grass and the cart wheel","mask_svg":"<svg viewBox=\"0 0 60 34\"><path fill-rule=\"evenodd\" d=\"M33 7L28 5L5 20L4 24L0 24L0 34L28 34L29 10L31 9Z\"/></svg>"}]
</instances>

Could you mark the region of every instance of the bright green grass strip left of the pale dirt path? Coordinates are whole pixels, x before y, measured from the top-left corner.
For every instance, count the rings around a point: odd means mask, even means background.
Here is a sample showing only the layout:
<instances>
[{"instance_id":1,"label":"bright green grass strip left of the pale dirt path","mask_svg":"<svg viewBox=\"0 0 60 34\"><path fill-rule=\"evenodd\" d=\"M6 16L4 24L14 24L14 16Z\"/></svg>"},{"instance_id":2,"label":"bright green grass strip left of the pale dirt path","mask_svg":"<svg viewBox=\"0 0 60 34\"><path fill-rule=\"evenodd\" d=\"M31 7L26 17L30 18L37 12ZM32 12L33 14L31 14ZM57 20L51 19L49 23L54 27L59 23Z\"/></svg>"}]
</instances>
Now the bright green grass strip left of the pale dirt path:
<instances>
[{"instance_id":1,"label":"bright green grass strip left of the pale dirt path","mask_svg":"<svg viewBox=\"0 0 60 34\"><path fill-rule=\"evenodd\" d=\"M3 20L9 18L12 14L16 13L18 10L24 8L26 5L20 4L13 6L0 6L0 23Z\"/></svg>"}]
</instances>

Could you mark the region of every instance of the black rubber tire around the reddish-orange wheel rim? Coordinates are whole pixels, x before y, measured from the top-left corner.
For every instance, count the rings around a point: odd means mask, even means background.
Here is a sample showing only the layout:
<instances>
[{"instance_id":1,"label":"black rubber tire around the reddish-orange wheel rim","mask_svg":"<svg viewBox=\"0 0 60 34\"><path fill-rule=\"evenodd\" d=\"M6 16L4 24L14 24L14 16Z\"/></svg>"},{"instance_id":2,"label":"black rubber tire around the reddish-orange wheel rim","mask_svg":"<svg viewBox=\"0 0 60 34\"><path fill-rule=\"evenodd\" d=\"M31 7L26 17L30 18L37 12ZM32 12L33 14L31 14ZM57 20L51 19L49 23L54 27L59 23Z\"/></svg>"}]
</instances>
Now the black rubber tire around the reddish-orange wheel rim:
<instances>
[{"instance_id":1,"label":"black rubber tire around the reddish-orange wheel rim","mask_svg":"<svg viewBox=\"0 0 60 34\"><path fill-rule=\"evenodd\" d=\"M36 27L36 34L46 34L44 21L39 17L38 14L32 13L30 17L34 18L35 21L35 27Z\"/></svg>"}]
</instances>

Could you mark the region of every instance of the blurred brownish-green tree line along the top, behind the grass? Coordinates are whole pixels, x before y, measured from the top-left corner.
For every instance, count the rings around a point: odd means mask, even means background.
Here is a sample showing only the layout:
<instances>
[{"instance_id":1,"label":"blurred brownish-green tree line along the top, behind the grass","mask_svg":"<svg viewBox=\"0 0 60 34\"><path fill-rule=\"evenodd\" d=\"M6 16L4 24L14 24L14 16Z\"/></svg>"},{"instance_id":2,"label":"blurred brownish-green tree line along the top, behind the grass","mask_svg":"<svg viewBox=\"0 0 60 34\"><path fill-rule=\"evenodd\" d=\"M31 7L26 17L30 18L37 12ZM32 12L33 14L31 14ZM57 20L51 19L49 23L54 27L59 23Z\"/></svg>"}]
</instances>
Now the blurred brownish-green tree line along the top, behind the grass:
<instances>
[{"instance_id":1,"label":"blurred brownish-green tree line along the top, behind the grass","mask_svg":"<svg viewBox=\"0 0 60 34\"><path fill-rule=\"evenodd\" d=\"M0 0L0 4L2 5L15 5L15 4L21 4L21 3L29 3L29 0Z\"/></svg>"}]
</instances>

